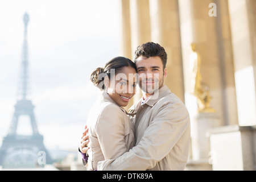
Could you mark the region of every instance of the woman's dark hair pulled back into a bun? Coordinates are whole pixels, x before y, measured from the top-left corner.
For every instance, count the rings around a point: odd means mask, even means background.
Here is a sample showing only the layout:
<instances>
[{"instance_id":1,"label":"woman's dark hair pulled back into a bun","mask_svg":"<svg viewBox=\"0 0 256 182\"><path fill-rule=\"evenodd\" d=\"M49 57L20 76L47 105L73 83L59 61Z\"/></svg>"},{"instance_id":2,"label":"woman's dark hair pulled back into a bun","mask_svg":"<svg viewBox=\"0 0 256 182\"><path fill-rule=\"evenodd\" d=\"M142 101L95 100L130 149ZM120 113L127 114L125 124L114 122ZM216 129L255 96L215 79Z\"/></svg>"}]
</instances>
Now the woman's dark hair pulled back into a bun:
<instances>
[{"instance_id":1,"label":"woman's dark hair pulled back into a bun","mask_svg":"<svg viewBox=\"0 0 256 182\"><path fill-rule=\"evenodd\" d=\"M137 72L137 68L135 63L131 61L130 59L126 57L114 57L112 60L108 61L106 63L104 68L97 68L95 71L92 72L92 75L90 75L90 81L93 82L95 86L100 88L101 90L105 89L104 85L104 78L106 75L108 75L110 79L110 70L114 69L115 75L119 72L121 72L123 67L132 67Z\"/></svg>"}]
</instances>

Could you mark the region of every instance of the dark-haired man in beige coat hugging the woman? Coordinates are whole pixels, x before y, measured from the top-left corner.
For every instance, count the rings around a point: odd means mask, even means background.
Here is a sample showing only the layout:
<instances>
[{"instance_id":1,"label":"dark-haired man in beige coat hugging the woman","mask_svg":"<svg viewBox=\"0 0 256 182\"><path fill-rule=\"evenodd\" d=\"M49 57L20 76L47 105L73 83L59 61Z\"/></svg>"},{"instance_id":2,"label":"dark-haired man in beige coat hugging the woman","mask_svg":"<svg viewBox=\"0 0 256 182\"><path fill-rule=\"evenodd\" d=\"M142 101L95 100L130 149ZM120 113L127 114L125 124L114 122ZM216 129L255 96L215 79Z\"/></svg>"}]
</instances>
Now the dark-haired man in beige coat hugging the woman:
<instances>
[{"instance_id":1,"label":"dark-haired man in beige coat hugging the woman","mask_svg":"<svg viewBox=\"0 0 256 182\"><path fill-rule=\"evenodd\" d=\"M98 163L98 170L184 170L189 152L190 121L183 102L164 86L167 54L148 42L135 51L143 96L130 108L136 144L117 159ZM82 138L80 151L86 148Z\"/></svg>"}]
</instances>

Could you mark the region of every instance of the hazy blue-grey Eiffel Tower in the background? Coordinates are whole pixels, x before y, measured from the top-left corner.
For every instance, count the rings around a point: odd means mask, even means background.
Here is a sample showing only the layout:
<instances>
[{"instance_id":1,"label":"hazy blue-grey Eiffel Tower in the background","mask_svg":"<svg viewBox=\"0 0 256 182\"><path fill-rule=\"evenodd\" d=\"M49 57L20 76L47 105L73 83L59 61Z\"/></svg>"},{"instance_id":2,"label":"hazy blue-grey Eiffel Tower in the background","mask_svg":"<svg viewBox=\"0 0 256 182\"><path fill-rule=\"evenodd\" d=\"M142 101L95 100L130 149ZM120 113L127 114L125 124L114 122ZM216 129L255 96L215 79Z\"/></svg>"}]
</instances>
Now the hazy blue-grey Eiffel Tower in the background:
<instances>
[{"instance_id":1,"label":"hazy blue-grey Eiffel Tower in the background","mask_svg":"<svg viewBox=\"0 0 256 182\"><path fill-rule=\"evenodd\" d=\"M22 53L22 72L20 76L21 98L15 105L13 120L8 134L3 138L0 148L0 166L3 168L34 168L42 167L44 164L52 163L46 147L43 144L43 135L38 132L34 115L34 105L27 99L28 92L28 46L27 46L27 25L29 16L23 16L24 41ZM17 125L20 115L27 115L30 118L32 135L17 134Z\"/></svg>"}]
</instances>

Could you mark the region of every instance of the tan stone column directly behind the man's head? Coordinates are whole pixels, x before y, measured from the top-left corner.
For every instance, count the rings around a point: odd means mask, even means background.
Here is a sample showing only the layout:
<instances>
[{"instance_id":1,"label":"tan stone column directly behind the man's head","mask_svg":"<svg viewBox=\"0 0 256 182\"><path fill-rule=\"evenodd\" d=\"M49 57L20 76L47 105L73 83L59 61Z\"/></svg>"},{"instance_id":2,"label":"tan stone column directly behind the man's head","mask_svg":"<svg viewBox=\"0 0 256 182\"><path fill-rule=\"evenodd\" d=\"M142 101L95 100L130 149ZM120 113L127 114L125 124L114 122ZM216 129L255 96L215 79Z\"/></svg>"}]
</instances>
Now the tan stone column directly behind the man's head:
<instances>
[{"instance_id":1,"label":"tan stone column directly behind the man's head","mask_svg":"<svg viewBox=\"0 0 256 182\"><path fill-rule=\"evenodd\" d=\"M167 52L167 77L164 84L184 101L183 67L177 0L150 0L152 42Z\"/></svg>"}]
</instances>

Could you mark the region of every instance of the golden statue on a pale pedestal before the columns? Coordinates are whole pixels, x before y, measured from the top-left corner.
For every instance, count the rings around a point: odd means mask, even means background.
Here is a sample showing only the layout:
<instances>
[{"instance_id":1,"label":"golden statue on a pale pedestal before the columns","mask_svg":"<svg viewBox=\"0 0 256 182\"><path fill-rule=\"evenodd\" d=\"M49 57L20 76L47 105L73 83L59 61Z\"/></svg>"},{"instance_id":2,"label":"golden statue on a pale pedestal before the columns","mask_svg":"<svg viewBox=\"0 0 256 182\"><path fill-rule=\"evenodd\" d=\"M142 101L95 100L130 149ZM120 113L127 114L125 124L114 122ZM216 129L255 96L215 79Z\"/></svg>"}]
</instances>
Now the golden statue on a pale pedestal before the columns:
<instances>
[{"instance_id":1,"label":"golden statue on a pale pedestal before the columns","mask_svg":"<svg viewBox=\"0 0 256 182\"><path fill-rule=\"evenodd\" d=\"M191 44L192 53L189 57L190 70L192 73L192 94L197 98L198 111L200 113L213 113L215 110L210 107L209 86L201 82L202 77L200 73L201 58L196 52L196 44Z\"/></svg>"}]
</instances>

